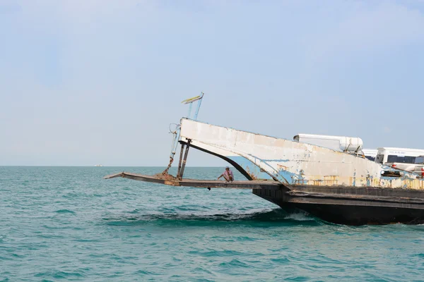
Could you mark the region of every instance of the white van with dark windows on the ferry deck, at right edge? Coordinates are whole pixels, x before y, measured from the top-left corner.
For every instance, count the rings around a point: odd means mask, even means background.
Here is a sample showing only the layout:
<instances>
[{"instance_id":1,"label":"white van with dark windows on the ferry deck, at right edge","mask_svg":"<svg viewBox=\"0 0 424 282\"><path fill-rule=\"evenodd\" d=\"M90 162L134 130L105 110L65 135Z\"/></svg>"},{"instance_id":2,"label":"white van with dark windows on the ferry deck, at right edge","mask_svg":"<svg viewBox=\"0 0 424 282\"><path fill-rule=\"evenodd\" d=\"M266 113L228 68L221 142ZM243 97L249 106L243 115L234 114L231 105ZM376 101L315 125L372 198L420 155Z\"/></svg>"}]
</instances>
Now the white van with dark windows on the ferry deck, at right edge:
<instances>
[{"instance_id":1,"label":"white van with dark windows on the ferry deck, at right edge","mask_svg":"<svg viewBox=\"0 0 424 282\"><path fill-rule=\"evenodd\" d=\"M377 150L376 163L387 164L404 171L415 171L416 157L424 155L424 149L382 147Z\"/></svg>"}]
</instances>

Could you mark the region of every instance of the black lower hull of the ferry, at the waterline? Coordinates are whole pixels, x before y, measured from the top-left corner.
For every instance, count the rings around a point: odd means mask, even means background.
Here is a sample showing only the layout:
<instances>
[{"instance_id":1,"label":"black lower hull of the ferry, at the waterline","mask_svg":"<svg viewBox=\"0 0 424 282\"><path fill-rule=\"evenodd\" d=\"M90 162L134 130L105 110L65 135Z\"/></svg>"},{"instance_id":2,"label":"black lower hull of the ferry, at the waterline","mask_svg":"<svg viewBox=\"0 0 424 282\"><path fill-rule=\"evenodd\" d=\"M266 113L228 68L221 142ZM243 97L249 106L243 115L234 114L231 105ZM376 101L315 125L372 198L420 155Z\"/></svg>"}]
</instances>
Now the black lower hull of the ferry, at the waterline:
<instances>
[{"instance_id":1,"label":"black lower hull of the ferry, at the waterline","mask_svg":"<svg viewBox=\"0 0 424 282\"><path fill-rule=\"evenodd\" d=\"M300 209L331 223L424 223L424 192L419 190L298 187L253 193L288 212Z\"/></svg>"}]
</instances>

